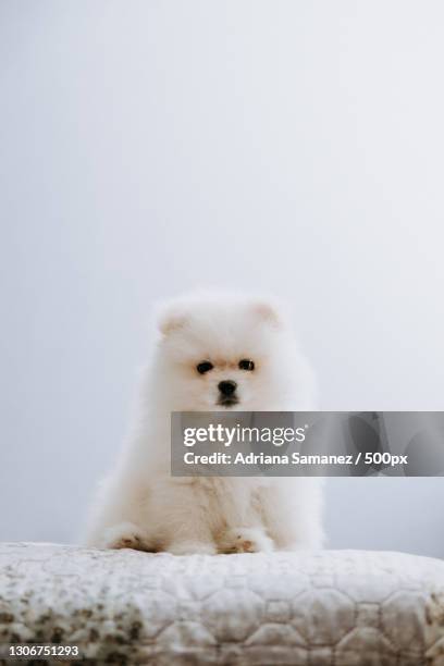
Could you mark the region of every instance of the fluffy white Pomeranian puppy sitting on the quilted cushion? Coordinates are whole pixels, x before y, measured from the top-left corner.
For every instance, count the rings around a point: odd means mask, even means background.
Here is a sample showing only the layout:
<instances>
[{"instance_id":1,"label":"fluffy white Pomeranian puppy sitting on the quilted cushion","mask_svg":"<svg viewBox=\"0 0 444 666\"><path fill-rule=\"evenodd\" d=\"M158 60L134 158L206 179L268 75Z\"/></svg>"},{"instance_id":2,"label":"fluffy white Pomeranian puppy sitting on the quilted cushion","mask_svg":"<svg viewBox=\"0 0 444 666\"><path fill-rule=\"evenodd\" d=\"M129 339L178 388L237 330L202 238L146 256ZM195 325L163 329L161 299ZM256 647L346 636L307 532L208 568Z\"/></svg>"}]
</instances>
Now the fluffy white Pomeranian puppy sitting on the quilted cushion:
<instances>
[{"instance_id":1,"label":"fluffy white Pomeranian puppy sitting on the quilted cushion","mask_svg":"<svg viewBox=\"0 0 444 666\"><path fill-rule=\"evenodd\" d=\"M192 553L317 548L316 478L172 477L172 411L309 411L314 382L279 308L195 295L169 303L139 414L94 507L90 546Z\"/></svg>"}]
</instances>

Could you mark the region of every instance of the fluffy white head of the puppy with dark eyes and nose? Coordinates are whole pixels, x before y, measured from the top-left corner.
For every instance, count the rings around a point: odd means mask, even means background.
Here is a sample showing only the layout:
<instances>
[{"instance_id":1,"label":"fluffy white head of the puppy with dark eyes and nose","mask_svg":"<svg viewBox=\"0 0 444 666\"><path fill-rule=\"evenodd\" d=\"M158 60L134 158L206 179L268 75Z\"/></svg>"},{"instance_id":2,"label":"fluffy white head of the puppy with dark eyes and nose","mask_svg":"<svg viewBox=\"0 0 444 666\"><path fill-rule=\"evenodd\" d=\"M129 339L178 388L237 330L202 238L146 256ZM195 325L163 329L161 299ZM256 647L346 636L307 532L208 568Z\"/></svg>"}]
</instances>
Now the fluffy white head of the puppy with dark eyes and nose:
<instances>
[{"instance_id":1,"label":"fluffy white head of the puppy with dark eyes and nose","mask_svg":"<svg viewBox=\"0 0 444 666\"><path fill-rule=\"evenodd\" d=\"M297 409L291 406L295 382L307 393L307 369L296 362L301 357L284 318L268 300L177 300L161 311L159 329L157 373L171 410Z\"/></svg>"}]
</instances>

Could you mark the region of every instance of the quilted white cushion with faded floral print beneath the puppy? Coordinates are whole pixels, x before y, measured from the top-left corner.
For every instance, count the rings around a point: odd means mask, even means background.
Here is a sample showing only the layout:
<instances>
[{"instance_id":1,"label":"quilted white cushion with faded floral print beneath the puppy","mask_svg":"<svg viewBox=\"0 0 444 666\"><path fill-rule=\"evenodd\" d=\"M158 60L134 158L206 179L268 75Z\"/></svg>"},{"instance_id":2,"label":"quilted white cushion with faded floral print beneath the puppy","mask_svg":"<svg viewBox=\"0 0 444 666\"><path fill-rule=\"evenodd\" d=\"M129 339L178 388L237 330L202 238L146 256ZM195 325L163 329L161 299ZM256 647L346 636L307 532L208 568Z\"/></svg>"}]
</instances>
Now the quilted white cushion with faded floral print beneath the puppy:
<instances>
[{"instance_id":1,"label":"quilted white cushion with faded floral print beneath the puppy","mask_svg":"<svg viewBox=\"0 0 444 666\"><path fill-rule=\"evenodd\" d=\"M1 643L101 663L441 666L441 590L444 563L400 553L0 546Z\"/></svg>"}]
</instances>

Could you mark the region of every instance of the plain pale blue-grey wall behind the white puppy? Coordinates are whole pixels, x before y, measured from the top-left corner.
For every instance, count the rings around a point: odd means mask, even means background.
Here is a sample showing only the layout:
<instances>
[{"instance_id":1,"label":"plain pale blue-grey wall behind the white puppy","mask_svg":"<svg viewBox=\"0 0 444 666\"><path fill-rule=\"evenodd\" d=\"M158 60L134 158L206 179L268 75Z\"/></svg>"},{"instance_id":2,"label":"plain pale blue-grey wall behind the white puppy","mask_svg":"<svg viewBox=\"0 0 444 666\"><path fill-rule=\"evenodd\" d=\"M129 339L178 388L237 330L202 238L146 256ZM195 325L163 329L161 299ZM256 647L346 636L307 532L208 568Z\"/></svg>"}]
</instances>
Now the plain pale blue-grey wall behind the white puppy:
<instances>
[{"instance_id":1,"label":"plain pale blue-grey wall behind the white puppy","mask_svg":"<svg viewBox=\"0 0 444 666\"><path fill-rule=\"evenodd\" d=\"M0 539L75 541L153 300L294 306L324 409L444 407L440 1L0 2ZM332 547L444 555L443 479L336 479Z\"/></svg>"}]
</instances>

